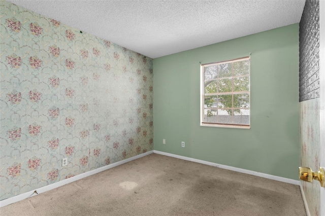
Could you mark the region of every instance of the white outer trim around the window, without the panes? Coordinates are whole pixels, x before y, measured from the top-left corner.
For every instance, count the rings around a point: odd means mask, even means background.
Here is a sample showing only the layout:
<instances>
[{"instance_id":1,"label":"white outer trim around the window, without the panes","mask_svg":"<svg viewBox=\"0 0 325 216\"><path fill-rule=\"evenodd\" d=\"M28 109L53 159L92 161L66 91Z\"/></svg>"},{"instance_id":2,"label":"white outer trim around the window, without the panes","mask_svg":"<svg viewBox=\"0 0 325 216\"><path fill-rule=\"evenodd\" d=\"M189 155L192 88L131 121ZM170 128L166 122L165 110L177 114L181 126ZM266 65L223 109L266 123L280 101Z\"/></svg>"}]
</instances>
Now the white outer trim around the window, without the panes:
<instances>
[{"instance_id":1,"label":"white outer trim around the window, without the panes","mask_svg":"<svg viewBox=\"0 0 325 216\"><path fill-rule=\"evenodd\" d=\"M226 124L213 124L213 123L203 123L203 111L204 111L204 66L205 65L217 65L220 64L221 62L237 62L237 61L242 61L243 59L248 58L250 59L250 56L242 57L242 58L237 58L229 61L220 61L220 62L215 62L215 63L207 63L207 64L201 64L200 65L200 126L203 127L219 127L219 128L237 128L237 129L250 129L250 114L249 114L249 125L226 125ZM250 64L249 64L250 67ZM251 98L251 85L250 85L250 73L251 70L249 69L249 104L251 104L250 98ZM249 112L251 110L251 107L249 105Z\"/></svg>"}]
</instances>

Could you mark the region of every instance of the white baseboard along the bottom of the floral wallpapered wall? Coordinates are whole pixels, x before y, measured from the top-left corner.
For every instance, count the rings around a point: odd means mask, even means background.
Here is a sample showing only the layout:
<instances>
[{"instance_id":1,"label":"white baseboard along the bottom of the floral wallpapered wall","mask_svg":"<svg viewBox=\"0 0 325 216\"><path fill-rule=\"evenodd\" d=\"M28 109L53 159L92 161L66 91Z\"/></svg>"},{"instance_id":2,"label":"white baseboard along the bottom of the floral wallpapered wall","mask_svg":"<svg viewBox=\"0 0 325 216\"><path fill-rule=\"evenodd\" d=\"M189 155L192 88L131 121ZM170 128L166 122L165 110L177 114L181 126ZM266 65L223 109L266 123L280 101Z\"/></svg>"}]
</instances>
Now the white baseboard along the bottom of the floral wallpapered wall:
<instances>
[{"instance_id":1,"label":"white baseboard along the bottom of the floral wallpapered wall","mask_svg":"<svg viewBox=\"0 0 325 216\"><path fill-rule=\"evenodd\" d=\"M90 175L93 175L93 174L96 174L96 173L105 171L105 170L110 169L110 168L113 168L115 166L119 166L119 165L122 165L124 163L130 162L130 161L133 161L133 160L136 160L138 158L142 158L142 157L147 156L147 155L150 155L152 153L153 153L153 151L146 152L146 153L143 153L141 155L137 155L137 156L134 156L134 157L131 157L131 158L127 158L127 159L122 160L122 161L118 161L118 162L113 163L113 164L109 164L107 166L103 166L103 167L100 167L100 168L97 168L97 169L90 170L88 172L81 173L81 174L76 175L76 176L73 176L71 178L63 179L62 181L53 183L51 185L44 186L42 188L38 188L38 189L35 189L35 190L31 190L31 191L28 191L26 193L19 194L17 196L14 196L14 197L10 197L10 198L1 200L0 201L0 207L4 207L6 205L9 205L9 204L12 204L12 203L21 201L23 199L27 199L27 198L32 197L32 196L36 196L37 194L35 193L35 191L37 191L38 194L41 194L41 193L44 193L46 191L50 191L52 189L58 188L60 186L63 186L63 185L66 185L66 184L75 182L75 181L77 181L77 180L79 180L81 178L84 178L84 177L87 177L87 176L90 176Z\"/></svg>"}]
</instances>

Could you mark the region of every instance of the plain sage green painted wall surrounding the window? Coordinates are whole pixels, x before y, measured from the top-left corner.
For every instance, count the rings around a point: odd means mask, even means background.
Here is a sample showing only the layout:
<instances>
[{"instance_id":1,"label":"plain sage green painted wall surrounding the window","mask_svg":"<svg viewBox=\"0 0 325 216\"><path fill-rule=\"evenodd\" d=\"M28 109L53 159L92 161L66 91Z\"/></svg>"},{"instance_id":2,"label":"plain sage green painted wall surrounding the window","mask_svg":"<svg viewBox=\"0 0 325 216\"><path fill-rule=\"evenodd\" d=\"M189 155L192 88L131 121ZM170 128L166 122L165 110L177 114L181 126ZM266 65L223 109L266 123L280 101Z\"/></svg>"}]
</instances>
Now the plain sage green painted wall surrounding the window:
<instances>
[{"instance_id":1,"label":"plain sage green painted wall surrounding the window","mask_svg":"<svg viewBox=\"0 0 325 216\"><path fill-rule=\"evenodd\" d=\"M251 128L200 127L199 62L249 53ZM298 23L156 58L153 71L154 150L298 179Z\"/></svg>"}]
</instances>

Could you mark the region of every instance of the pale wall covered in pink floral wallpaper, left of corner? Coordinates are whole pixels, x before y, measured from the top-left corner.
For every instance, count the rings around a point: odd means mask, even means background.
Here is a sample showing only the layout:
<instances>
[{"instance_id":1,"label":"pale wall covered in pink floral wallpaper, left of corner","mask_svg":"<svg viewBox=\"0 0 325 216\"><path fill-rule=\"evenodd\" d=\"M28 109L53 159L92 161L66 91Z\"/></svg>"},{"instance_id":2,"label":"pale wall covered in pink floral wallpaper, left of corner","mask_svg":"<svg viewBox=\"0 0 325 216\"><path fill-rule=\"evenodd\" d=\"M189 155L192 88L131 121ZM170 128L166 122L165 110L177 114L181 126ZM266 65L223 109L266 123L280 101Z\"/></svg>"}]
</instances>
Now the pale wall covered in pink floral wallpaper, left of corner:
<instances>
[{"instance_id":1,"label":"pale wall covered in pink floral wallpaper, left of corner","mask_svg":"<svg viewBox=\"0 0 325 216\"><path fill-rule=\"evenodd\" d=\"M6 1L0 16L0 200L153 149L152 59Z\"/></svg>"}]
</instances>

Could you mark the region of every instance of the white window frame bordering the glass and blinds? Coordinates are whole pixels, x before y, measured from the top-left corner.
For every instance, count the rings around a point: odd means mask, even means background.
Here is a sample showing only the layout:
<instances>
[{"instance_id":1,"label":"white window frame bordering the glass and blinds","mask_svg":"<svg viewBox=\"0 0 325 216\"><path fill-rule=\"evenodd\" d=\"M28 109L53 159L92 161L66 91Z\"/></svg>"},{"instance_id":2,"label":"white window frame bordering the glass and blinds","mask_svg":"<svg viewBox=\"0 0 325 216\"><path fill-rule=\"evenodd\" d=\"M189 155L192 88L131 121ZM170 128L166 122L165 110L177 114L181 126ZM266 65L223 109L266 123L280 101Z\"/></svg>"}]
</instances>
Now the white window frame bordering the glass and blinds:
<instances>
[{"instance_id":1,"label":"white window frame bordering the glass and blinds","mask_svg":"<svg viewBox=\"0 0 325 216\"><path fill-rule=\"evenodd\" d=\"M249 125L238 125L238 124L222 124L222 123L205 123L203 122L203 115L204 115L204 99L205 99L205 77L204 77L204 67L209 65L219 65L224 63L234 63L238 61L243 61L244 59L249 60ZM239 128L239 129L250 129L250 116L251 116L251 85L250 85L250 76L251 75L251 68L250 68L250 56L245 56L241 58L213 62L213 63L205 63L200 65L200 126L204 127L219 127L219 128ZM234 78L234 77L233 77ZM234 92L231 92L234 93ZM234 107L232 107L234 109Z\"/></svg>"}]
</instances>

